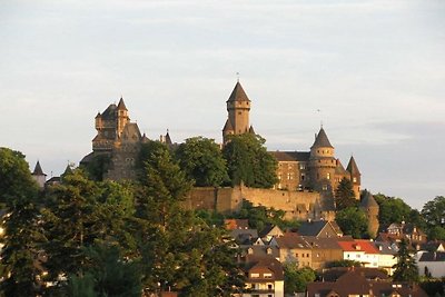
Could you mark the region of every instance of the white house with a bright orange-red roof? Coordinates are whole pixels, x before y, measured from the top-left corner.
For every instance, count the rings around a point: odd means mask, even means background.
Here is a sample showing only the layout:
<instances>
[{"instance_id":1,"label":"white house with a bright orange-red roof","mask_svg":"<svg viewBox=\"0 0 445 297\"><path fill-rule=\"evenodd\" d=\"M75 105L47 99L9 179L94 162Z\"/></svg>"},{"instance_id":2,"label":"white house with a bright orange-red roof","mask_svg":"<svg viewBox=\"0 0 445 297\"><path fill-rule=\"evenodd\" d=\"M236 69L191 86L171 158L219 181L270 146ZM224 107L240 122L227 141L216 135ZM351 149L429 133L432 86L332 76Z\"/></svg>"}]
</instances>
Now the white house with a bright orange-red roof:
<instances>
[{"instance_id":1,"label":"white house with a bright orange-red roof","mask_svg":"<svg viewBox=\"0 0 445 297\"><path fill-rule=\"evenodd\" d=\"M360 263L364 267L378 267L378 249L369 240L339 240L338 245L343 249L343 259Z\"/></svg>"}]
</instances>

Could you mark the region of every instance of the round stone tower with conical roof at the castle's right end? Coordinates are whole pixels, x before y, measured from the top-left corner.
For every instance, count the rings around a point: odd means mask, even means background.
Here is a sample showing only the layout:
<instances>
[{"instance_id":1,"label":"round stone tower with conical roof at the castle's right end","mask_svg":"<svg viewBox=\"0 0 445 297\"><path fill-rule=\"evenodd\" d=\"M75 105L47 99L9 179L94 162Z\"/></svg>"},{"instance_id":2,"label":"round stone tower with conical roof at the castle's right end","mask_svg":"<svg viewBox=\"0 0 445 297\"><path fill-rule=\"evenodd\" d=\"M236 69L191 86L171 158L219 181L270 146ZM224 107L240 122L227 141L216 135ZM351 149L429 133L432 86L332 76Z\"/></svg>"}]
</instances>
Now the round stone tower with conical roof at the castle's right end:
<instances>
[{"instance_id":1,"label":"round stone tower with conical roof at the castle's right end","mask_svg":"<svg viewBox=\"0 0 445 297\"><path fill-rule=\"evenodd\" d=\"M325 194L333 194L333 180L337 160L334 157L334 147L323 127L315 137L310 147L309 176L313 188Z\"/></svg>"}]
</instances>

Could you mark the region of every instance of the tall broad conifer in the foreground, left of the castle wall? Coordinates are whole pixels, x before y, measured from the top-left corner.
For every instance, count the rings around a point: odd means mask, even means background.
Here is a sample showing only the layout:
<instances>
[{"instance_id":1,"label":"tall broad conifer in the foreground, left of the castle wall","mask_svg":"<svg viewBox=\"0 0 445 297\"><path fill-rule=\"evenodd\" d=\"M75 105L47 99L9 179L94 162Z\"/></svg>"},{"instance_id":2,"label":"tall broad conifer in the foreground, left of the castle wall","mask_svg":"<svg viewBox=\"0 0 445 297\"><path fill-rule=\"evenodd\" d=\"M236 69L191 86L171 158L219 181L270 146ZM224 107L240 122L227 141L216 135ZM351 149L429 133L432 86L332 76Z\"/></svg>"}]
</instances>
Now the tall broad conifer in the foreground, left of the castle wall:
<instances>
[{"instance_id":1,"label":"tall broad conifer in the foreground, left of the castle wall","mask_svg":"<svg viewBox=\"0 0 445 297\"><path fill-rule=\"evenodd\" d=\"M182 208L191 181L160 142L145 145L136 194L135 234L142 281L150 291L226 296L239 288L230 241Z\"/></svg>"}]
</instances>

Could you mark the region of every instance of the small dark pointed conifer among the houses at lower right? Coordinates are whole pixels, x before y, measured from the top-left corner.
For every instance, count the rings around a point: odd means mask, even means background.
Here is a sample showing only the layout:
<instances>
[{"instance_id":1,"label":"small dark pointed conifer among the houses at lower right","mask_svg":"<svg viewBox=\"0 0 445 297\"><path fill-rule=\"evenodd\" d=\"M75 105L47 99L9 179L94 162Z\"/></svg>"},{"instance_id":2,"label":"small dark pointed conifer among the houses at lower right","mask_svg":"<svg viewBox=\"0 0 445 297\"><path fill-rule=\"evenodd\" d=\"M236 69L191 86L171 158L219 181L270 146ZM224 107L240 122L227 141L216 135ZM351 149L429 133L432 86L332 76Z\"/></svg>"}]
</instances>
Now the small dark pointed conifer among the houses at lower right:
<instances>
[{"instance_id":1,"label":"small dark pointed conifer among the houses at lower right","mask_svg":"<svg viewBox=\"0 0 445 297\"><path fill-rule=\"evenodd\" d=\"M408 241L405 238L402 239L395 257L397 258L397 264L393 266L395 268L393 279L395 281L417 283L418 267L408 247Z\"/></svg>"}]
</instances>

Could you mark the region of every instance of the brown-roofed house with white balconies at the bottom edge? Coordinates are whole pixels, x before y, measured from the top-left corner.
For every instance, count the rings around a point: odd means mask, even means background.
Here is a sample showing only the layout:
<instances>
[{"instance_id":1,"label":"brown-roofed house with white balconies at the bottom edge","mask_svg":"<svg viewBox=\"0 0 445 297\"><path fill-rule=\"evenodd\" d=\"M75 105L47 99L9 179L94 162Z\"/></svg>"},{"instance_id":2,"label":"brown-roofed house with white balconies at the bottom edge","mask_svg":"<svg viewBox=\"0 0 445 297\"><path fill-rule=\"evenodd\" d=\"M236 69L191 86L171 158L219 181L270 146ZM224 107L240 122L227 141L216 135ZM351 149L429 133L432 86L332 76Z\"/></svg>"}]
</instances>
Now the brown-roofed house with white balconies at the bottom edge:
<instances>
[{"instance_id":1,"label":"brown-roofed house with white balconies at the bottom edge","mask_svg":"<svg viewBox=\"0 0 445 297\"><path fill-rule=\"evenodd\" d=\"M243 297L285 296L283 266L276 259L269 257L251 260L244 265L243 270L247 278Z\"/></svg>"}]
</instances>

